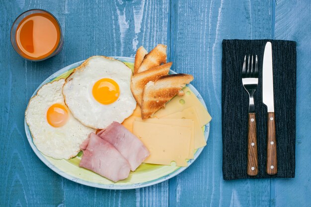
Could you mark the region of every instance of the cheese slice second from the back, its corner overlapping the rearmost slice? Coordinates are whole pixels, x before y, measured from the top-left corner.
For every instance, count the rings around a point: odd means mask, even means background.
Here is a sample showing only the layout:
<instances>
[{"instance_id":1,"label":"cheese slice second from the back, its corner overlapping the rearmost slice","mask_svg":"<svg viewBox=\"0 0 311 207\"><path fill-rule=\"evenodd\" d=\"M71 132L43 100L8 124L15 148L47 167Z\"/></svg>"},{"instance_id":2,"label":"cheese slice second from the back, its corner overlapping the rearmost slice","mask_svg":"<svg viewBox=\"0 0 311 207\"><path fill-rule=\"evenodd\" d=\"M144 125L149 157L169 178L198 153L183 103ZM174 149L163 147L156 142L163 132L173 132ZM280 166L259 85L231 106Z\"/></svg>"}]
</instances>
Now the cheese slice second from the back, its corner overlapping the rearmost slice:
<instances>
[{"instance_id":1,"label":"cheese slice second from the back, its corner overlapping the rearmost slice","mask_svg":"<svg viewBox=\"0 0 311 207\"><path fill-rule=\"evenodd\" d=\"M194 107L189 107L183 111L175 112L162 118L192 119L194 122L194 148L197 149L206 145L202 126Z\"/></svg>"}]
</instances>

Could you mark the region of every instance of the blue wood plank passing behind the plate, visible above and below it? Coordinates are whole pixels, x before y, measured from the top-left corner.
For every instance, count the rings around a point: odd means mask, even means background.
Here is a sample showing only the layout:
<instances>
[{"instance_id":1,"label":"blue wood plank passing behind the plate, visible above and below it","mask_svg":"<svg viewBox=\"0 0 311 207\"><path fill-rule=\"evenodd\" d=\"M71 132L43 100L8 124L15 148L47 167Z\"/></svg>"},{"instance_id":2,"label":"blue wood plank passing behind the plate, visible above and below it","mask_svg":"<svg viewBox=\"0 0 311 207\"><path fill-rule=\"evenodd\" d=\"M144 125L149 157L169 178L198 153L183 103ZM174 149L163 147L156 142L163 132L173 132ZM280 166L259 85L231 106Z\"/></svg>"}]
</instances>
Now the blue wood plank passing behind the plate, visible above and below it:
<instances>
[{"instance_id":1,"label":"blue wood plank passing behind the plate, visible above and below it","mask_svg":"<svg viewBox=\"0 0 311 207\"><path fill-rule=\"evenodd\" d=\"M141 45L150 51L158 43L167 44L167 0L94 4L75 0L67 1L65 10L64 53L68 64L92 55L134 57ZM113 191L65 180L64 191L65 206L168 206L168 181L143 189Z\"/></svg>"}]
</instances>

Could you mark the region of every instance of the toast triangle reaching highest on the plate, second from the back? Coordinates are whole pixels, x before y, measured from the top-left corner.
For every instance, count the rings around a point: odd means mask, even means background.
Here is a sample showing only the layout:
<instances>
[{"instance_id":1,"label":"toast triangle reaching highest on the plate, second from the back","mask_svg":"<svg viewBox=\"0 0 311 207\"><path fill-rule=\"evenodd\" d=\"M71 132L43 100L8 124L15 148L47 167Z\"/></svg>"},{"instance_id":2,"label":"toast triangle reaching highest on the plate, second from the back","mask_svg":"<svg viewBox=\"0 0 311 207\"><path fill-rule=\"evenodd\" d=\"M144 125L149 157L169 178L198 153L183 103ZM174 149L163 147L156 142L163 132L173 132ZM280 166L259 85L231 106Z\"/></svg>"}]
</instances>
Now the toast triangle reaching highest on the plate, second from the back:
<instances>
[{"instance_id":1,"label":"toast triangle reaching highest on the plate, second from the back","mask_svg":"<svg viewBox=\"0 0 311 207\"><path fill-rule=\"evenodd\" d=\"M143 72L166 63L166 45L158 44L150 53L148 53L137 72Z\"/></svg>"}]
</instances>

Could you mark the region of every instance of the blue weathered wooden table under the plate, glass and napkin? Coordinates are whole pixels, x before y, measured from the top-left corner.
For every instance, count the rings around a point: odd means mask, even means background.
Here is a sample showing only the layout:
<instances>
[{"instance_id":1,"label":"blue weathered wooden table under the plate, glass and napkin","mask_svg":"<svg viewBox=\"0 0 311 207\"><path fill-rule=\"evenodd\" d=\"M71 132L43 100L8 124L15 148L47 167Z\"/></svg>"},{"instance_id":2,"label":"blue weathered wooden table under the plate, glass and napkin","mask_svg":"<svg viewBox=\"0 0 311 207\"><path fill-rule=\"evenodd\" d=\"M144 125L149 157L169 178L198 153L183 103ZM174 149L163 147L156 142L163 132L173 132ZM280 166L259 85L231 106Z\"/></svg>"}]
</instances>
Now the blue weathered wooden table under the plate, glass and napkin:
<instances>
[{"instance_id":1,"label":"blue weathered wooden table under the plate, glass and napkin","mask_svg":"<svg viewBox=\"0 0 311 207\"><path fill-rule=\"evenodd\" d=\"M9 40L14 19L31 8L52 12L65 38L59 55L37 63L20 58ZM0 207L311 207L310 19L310 0L1 0ZM223 180L221 43L235 38L297 41L294 179ZM134 57L158 43L167 44L173 70L194 75L213 117L200 157L168 181L123 191L77 184L41 162L24 132L38 85L92 55Z\"/></svg>"}]
</instances>

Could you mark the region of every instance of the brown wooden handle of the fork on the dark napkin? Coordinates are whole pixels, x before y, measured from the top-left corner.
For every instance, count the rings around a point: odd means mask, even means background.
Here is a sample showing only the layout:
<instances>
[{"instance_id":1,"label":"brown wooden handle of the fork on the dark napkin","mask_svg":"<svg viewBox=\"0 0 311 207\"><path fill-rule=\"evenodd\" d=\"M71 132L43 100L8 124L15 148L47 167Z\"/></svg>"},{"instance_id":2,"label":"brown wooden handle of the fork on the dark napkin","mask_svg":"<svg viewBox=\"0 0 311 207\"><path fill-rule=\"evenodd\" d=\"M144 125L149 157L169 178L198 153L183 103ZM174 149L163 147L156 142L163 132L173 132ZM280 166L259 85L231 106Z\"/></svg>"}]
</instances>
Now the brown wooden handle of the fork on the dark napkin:
<instances>
[{"instance_id":1,"label":"brown wooden handle of the fork on the dark napkin","mask_svg":"<svg viewBox=\"0 0 311 207\"><path fill-rule=\"evenodd\" d=\"M248 113L247 132L247 175L258 174L257 133L255 113Z\"/></svg>"}]
</instances>

